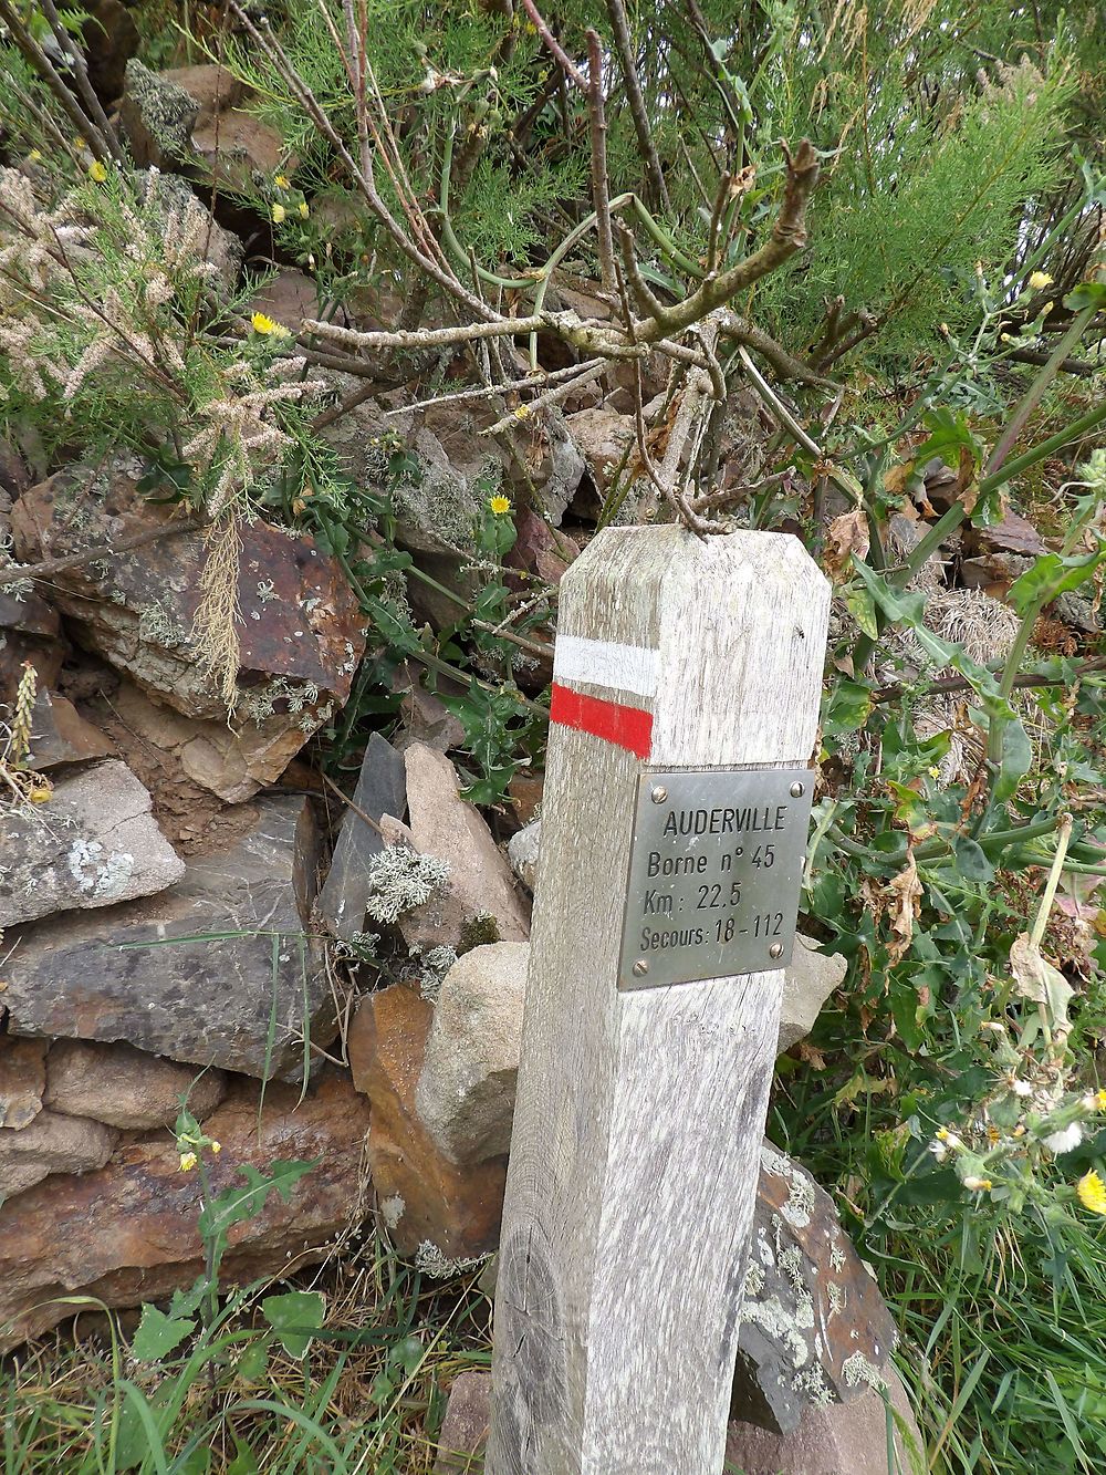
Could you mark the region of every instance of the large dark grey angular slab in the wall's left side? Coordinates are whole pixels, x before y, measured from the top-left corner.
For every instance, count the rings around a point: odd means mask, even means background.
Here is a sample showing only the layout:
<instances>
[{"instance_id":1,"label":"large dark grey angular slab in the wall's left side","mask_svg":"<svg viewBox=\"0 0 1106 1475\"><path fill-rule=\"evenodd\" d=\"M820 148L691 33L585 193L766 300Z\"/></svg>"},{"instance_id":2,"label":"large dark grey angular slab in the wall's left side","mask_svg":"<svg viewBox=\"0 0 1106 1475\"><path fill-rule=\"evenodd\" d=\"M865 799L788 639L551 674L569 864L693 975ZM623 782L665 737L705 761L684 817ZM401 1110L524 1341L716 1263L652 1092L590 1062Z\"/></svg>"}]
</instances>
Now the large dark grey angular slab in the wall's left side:
<instances>
[{"instance_id":1,"label":"large dark grey angular slab in the wall's left side","mask_svg":"<svg viewBox=\"0 0 1106 1475\"><path fill-rule=\"evenodd\" d=\"M159 897L9 932L9 1030L128 1040L198 1066L295 1078L304 1030L317 1044L335 1032L307 938L319 835L302 798L246 808L246 833L193 857Z\"/></svg>"}]
</instances>

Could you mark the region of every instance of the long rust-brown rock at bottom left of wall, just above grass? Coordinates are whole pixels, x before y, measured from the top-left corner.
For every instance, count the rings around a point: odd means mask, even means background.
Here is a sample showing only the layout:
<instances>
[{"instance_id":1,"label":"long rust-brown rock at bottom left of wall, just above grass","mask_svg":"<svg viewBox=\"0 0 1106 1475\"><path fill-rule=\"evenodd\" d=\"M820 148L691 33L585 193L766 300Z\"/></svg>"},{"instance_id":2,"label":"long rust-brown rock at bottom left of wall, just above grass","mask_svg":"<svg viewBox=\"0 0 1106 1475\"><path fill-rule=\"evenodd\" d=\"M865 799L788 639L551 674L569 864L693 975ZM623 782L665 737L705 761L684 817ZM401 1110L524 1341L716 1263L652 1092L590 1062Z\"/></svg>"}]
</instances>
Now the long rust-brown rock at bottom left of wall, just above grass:
<instances>
[{"instance_id":1,"label":"long rust-brown rock at bottom left of wall, just above grass","mask_svg":"<svg viewBox=\"0 0 1106 1475\"><path fill-rule=\"evenodd\" d=\"M273 1193L257 1218L230 1229L224 1283L280 1274L319 1260L358 1212L369 1106L344 1075L299 1092L270 1086L258 1127L258 1087L239 1081L208 1118L221 1143L209 1158L215 1192L242 1183L239 1167L319 1159L285 1204ZM103 1128L102 1128L103 1130ZM202 1271L196 1232L201 1183L181 1173L168 1133L121 1146L99 1173L53 1177L0 1210L0 1348L55 1326L72 1308L53 1297L91 1295L137 1305L187 1286Z\"/></svg>"}]
</instances>

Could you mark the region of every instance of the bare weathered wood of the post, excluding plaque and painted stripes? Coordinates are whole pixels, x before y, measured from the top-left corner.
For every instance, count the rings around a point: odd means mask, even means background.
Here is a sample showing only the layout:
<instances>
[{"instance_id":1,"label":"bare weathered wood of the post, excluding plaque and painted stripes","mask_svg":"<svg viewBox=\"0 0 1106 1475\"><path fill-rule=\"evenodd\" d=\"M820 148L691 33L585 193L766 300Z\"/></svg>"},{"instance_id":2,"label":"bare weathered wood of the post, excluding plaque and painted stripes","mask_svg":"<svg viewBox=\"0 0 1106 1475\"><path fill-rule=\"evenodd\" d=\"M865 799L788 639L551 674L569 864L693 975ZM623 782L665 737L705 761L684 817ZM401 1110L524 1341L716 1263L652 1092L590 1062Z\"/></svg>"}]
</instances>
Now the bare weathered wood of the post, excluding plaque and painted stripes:
<instances>
[{"instance_id":1,"label":"bare weathered wood of the post, excluding plaque and painted stripes","mask_svg":"<svg viewBox=\"0 0 1106 1475\"><path fill-rule=\"evenodd\" d=\"M659 652L653 745L550 729L488 1475L723 1468L783 974L618 993L634 786L807 763L827 609L765 532L608 530L560 586L562 636Z\"/></svg>"}]
</instances>

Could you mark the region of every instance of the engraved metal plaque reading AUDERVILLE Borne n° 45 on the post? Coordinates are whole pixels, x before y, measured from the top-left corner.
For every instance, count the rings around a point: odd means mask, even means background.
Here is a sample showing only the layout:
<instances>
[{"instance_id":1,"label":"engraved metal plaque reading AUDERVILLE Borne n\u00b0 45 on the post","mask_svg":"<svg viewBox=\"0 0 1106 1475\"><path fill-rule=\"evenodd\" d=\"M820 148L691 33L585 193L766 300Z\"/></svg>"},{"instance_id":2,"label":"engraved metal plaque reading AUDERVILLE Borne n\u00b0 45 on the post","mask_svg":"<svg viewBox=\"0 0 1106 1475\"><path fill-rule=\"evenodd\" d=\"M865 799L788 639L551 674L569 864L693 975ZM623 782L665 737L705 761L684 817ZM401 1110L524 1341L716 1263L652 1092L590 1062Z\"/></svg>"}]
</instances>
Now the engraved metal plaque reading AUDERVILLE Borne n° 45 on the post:
<instances>
[{"instance_id":1,"label":"engraved metal plaque reading AUDERVILLE Borne n\u00b0 45 on the post","mask_svg":"<svg viewBox=\"0 0 1106 1475\"><path fill-rule=\"evenodd\" d=\"M619 988L786 968L811 768L680 768L637 782Z\"/></svg>"}]
</instances>

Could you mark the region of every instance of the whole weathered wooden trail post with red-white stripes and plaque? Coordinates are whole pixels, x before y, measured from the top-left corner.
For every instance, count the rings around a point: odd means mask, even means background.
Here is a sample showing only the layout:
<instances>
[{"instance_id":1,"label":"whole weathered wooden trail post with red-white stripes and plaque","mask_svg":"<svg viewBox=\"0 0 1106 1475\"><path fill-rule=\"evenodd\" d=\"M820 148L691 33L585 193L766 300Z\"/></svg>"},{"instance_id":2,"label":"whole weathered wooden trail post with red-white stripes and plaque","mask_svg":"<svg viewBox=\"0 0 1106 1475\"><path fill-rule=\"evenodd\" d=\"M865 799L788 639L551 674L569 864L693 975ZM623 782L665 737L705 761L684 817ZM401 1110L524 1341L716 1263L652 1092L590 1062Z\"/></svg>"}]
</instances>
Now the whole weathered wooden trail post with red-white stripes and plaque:
<instances>
[{"instance_id":1,"label":"whole weathered wooden trail post with red-white stripes and plaque","mask_svg":"<svg viewBox=\"0 0 1106 1475\"><path fill-rule=\"evenodd\" d=\"M487 1475L718 1475L829 586L609 528L560 586Z\"/></svg>"}]
</instances>

